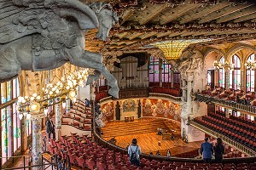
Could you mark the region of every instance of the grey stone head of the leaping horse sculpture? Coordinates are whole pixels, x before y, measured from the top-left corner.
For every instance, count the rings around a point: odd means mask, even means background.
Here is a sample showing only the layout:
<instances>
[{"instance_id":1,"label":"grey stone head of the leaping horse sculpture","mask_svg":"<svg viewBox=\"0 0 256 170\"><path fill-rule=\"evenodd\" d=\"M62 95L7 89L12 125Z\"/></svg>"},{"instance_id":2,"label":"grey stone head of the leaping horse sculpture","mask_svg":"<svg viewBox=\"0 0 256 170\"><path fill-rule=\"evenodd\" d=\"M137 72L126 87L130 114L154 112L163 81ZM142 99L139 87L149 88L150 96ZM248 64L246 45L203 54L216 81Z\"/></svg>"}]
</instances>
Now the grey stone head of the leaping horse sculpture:
<instances>
[{"instance_id":1,"label":"grey stone head of the leaping horse sculpture","mask_svg":"<svg viewBox=\"0 0 256 170\"><path fill-rule=\"evenodd\" d=\"M107 41L109 31L118 22L119 17L113 12L112 6L109 3L90 3L90 8L95 11L99 21L96 37L102 41Z\"/></svg>"}]
</instances>

